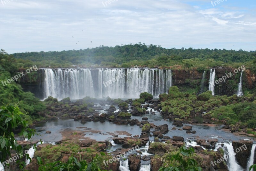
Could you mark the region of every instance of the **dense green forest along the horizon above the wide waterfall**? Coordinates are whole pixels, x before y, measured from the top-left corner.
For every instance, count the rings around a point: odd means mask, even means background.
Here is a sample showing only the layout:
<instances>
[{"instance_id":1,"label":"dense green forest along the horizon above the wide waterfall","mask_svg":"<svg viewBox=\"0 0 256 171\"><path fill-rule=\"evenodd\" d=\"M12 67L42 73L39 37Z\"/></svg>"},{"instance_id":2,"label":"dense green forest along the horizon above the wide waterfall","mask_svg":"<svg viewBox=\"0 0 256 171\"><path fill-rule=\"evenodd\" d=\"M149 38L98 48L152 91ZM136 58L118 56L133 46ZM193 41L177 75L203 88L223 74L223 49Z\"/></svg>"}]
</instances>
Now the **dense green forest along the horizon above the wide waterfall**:
<instances>
[{"instance_id":1,"label":"dense green forest along the horizon above the wide waterfall","mask_svg":"<svg viewBox=\"0 0 256 171\"><path fill-rule=\"evenodd\" d=\"M81 67L101 66L101 67L131 67L148 66L168 67L181 65L183 68L190 67L214 67L233 66L237 67L241 63L252 67L250 61L256 61L256 51L226 50L226 49L193 49L181 48L166 49L156 45L128 44L122 46L108 47L100 46L80 50L69 50L61 52L26 52L14 53L13 56L20 63L25 63L25 67L36 64L38 67ZM25 60L25 61L24 61ZM33 61L33 64L30 63ZM240 65L241 66L241 65Z\"/></svg>"}]
</instances>

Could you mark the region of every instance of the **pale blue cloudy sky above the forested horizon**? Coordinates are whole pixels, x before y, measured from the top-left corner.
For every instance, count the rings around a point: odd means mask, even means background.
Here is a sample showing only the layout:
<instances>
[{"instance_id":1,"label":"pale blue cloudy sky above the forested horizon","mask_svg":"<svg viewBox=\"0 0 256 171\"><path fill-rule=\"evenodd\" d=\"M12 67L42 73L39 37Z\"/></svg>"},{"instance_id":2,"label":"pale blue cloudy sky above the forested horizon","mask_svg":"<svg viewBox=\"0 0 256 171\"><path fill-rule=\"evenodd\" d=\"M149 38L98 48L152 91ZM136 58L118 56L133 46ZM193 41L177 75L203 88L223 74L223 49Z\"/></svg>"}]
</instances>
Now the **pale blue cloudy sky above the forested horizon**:
<instances>
[{"instance_id":1,"label":"pale blue cloudy sky above the forested horizon","mask_svg":"<svg viewBox=\"0 0 256 171\"><path fill-rule=\"evenodd\" d=\"M256 50L255 0L0 0L0 14L9 54L139 42Z\"/></svg>"}]
</instances>

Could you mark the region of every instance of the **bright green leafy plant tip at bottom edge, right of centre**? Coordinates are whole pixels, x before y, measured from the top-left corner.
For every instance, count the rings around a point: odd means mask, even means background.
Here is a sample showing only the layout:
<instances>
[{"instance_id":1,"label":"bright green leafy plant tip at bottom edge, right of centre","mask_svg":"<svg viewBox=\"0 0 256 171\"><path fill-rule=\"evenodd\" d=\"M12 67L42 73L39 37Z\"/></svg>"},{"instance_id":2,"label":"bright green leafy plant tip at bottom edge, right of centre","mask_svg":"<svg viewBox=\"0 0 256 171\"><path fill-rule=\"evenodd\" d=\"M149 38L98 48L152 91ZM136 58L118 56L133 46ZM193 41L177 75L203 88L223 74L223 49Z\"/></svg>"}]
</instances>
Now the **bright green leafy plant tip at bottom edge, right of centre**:
<instances>
[{"instance_id":1,"label":"bright green leafy plant tip at bottom edge, right of centre","mask_svg":"<svg viewBox=\"0 0 256 171\"><path fill-rule=\"evenodd\" d=\"M166 158L169 167L160 167L158 171L202 171L197 161L193 159L193 153L195 150L192 147L188 149L185 146L180 147L176 154Z\"/></svg>"}]
</instances>

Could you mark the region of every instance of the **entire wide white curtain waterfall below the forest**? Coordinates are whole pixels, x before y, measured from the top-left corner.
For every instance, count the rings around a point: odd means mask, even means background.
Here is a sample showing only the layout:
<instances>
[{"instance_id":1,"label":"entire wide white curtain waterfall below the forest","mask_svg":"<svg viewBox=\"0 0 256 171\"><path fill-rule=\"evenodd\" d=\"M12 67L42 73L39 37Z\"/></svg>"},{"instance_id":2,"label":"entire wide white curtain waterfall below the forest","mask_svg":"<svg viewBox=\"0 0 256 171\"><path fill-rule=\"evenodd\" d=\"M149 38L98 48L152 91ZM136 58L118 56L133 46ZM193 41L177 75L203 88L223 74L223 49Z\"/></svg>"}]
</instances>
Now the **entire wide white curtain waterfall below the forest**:
<instances>
[{"instance_id":1,"label":"entire wide white curtain waterfall below the forest","mask_svg":"<svg viewBox=\"0 0 256 171\"><path fill-rule=\"evenodd\" d=\"M159 97L172 86L172 70L148 68L42 68L44 98L138 98L148 92Z\"/></svg>"}]
</instances>

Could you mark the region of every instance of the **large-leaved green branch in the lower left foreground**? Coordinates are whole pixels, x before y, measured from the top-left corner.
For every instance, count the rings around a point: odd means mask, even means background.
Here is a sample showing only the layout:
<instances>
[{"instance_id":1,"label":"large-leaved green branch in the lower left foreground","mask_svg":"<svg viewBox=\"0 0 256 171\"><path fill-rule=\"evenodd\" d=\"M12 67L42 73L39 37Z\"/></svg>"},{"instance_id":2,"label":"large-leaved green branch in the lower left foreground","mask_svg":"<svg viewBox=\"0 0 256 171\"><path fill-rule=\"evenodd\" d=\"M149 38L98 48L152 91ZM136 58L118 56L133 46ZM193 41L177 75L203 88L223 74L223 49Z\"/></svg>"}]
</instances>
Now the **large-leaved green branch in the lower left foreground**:
<instances>
[{"instance_id":1,"label":"large-leaved green branch in the lower left foreground","mask_svg":"<svg viewBox=\"0 0 256 171\"><path fill-rule=\"evenodd\" d=\"M28 121L22 119L22 112L18 107L8 105L0 108L0 160L4 162L8 156L11 156L11 150L15 150L16 153L22 154L21 146L15 144L14 129L20 130L19 135L30 139L35 134L34 129L28 127ZM34 145L34 148L35 145ZM24 155L26 159L31 160L28 154ZM24 161L17 160L20 164L20 169L26 166Z\"/></svg>"}]
</instances>

